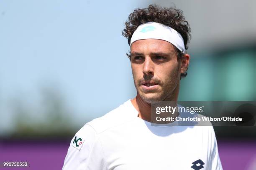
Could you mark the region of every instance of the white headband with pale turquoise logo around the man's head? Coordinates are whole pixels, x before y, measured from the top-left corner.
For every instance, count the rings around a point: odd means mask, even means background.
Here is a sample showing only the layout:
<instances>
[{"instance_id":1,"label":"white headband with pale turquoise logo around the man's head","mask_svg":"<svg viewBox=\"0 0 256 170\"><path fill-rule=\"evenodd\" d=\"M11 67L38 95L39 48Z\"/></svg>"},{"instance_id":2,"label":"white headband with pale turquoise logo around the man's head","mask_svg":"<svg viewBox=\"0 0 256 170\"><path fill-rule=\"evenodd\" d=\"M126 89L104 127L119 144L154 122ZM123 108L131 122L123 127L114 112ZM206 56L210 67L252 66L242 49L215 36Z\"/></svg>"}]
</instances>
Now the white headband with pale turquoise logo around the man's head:
<instances>
[{"instance_id":1,"label":"white headband with pale turquoise logo around the man's head","mask_svg":"<svg viewBox=\"0 0 256 170\"><path fill-rule=\"evenodd\" d=\"M171 27L164 24L148 22L138 26L131 37L130 45L137 40L143 39L159 39L165 40L175 47L177 47L181 52L185 53L184 40L182 36Z\"/></svg>"}]
</instances>

